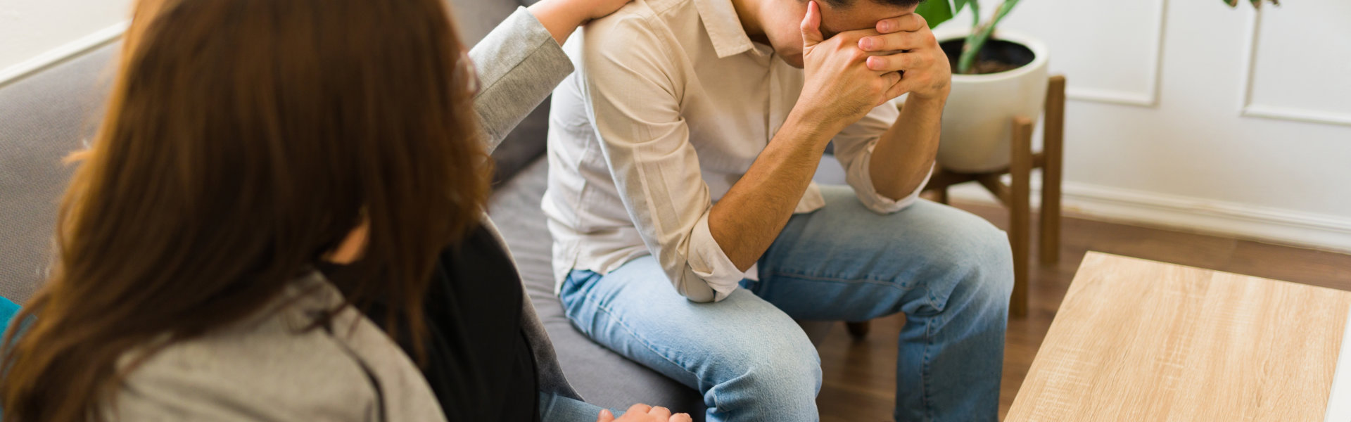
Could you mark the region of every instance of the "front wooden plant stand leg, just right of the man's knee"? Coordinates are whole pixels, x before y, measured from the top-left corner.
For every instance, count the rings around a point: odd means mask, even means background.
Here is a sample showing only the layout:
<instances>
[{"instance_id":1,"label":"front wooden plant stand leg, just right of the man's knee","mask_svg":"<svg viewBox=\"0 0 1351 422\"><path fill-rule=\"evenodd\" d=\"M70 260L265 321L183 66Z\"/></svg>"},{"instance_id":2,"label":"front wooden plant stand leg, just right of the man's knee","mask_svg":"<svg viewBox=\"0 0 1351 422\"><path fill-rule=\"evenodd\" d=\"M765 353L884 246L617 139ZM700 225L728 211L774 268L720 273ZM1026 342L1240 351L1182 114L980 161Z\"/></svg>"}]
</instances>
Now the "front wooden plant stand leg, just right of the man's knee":
<instances>
[{"instance_id":1,"label":"front wooden plant stand leg, just right of the man's knee","mask_svg":"<svg viewBox=\"0 0 1351 422\"><path fill-rule=\"evenodd\" d=\"M1031 258L1032 119L1013 118L1009 161L1009 242L1013 248L1013 298L1009 315L1027 316L1028 261Z\"/></svg>"}]
</instances>

